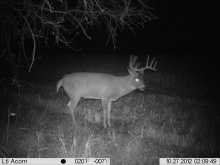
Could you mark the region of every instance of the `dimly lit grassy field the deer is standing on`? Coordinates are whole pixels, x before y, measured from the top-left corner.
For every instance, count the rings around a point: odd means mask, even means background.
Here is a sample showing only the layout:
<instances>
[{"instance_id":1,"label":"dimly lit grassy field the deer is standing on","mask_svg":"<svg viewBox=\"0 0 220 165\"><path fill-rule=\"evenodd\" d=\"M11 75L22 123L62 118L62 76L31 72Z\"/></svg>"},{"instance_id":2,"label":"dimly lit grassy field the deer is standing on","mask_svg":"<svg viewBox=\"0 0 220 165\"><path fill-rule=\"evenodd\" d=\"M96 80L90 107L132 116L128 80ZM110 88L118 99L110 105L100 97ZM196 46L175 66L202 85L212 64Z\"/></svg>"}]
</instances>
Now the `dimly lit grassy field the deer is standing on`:
<instances>
[{"instance_id":1,"label":"dimly lit grassy field the deer is standing on","mask_svg":"<svg viewBox=\"0 0 220 165\"><path fill-rule=\"evenodd\" d=\"M75 111L76 128L66 107L69 98L62 89L56 93L56 82L77 71L127 75L128 58L81 55L39 61L31 74L21 76L31 86L24 82L20 96L7 86L1 96L0 157L110 157L114 165L219 157L219 103L207 75L181 60L157 59L159 70L145 72L144 92L113 102L113 127L107 129L101 101L85 99Z\"/></svg>"}]
</instances>

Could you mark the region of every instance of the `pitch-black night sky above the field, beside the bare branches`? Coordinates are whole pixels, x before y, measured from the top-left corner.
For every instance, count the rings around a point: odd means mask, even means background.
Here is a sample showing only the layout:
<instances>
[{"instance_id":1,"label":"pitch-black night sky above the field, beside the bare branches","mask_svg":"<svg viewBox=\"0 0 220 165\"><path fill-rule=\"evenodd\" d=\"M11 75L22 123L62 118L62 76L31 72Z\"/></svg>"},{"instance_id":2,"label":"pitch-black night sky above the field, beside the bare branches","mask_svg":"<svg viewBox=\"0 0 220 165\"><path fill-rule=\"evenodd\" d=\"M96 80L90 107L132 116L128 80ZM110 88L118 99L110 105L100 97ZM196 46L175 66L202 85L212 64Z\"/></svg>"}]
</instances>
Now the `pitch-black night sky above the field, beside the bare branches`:
<instances>
[{"instance_id":1,"label":"pitch-black night sky above the field, beside the bare branches","mask_svg":"<svg viewBox=\"0 0 220 165\"><path fill-rule=\"evenodd\" d=\"M128 29L119 32L115 51L111 43L105 45L107 36L100 32L91 34L92 40L79 40L79 47L97 53L217 53L217 4L179 0L152 4L159 19L135 29L136 36Z\"/></svg>"}]
</instances>

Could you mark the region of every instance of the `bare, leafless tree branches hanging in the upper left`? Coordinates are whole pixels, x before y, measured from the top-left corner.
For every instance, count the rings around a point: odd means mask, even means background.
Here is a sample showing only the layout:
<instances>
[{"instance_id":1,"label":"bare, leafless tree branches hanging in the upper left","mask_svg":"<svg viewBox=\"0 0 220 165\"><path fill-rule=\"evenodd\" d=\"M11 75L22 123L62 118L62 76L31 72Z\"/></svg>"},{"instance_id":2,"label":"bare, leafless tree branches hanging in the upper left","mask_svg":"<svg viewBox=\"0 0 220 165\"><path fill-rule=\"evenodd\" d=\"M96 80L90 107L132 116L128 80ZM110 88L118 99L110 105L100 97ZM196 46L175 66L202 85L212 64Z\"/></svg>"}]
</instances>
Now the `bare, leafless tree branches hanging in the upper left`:
<instances>
[{"instance_id":1,"label":"bare, leafless tree branches hanging in the upper left","mask_svg":"<svg viewBox=\"0 0 220 165\"><path fill-rule=\"evenodd\" d=\"M38 46L54 39L74 49L76 37L91 39L94 26L106 29L115 48L117 33L156 19L152 11L147 0L0 0L0 60L14 71L25 61L31 71Z\"/></svg>"}]
</instances>

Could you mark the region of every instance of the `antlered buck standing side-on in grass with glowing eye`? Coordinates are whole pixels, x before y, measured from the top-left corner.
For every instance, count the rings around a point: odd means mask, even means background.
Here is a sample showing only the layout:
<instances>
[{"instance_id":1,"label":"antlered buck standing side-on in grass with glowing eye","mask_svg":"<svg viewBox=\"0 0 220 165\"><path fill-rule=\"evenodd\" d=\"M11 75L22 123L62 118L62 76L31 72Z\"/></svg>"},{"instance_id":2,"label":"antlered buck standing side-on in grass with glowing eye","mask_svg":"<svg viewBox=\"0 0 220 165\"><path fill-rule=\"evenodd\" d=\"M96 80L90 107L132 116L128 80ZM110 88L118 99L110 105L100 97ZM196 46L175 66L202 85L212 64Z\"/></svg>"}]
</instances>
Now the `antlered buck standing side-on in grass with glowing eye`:
<instances>
[{"instance_id":1,"label":"antlered buck standing side-on in grass with glowing eye","mask_svg":"<svg viewBox=\"0 0 220 165\"><path fill-rule=\"evenodd\" d=\"M137 56L130 56L129 68L127 68L129 75L127 76L77 72L65 75L58 81L57 93L59 88L63 86L64 91L70 98L67 106L75 125L77 125L77 123L74 110L80 98L83 97L85 99L101 99L104 113L103 126L106 128L106 118L108 118L108 126L111 127L110 113L112 101L117 101L119 98L136 89L143 91L145 89L143 80L144 71L146 69L157 71L157 61L155 61L155 58L153 58L149 65L148 55L146 66L143 68L138 68L140 63L136 62L137 58Z\"/></svg>"}]
</instances>

